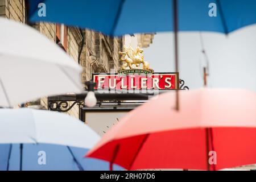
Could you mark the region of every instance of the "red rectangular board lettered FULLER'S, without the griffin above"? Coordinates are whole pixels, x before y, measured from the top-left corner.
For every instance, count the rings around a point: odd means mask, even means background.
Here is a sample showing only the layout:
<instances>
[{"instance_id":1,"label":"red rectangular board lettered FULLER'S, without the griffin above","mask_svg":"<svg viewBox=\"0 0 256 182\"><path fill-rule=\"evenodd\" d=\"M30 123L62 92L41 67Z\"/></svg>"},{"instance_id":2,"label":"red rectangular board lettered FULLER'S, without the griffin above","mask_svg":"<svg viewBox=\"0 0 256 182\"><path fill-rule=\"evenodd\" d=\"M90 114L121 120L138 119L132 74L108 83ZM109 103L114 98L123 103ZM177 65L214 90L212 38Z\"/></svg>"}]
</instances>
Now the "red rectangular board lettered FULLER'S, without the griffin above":
<instances>
[{"instance_id":1,"label":"red rectangular board lettered FULLER'S, without the griffin above","mask_svg":"<svg viewBox=\"0 0 256 182\"><path fill-rule=\"evenodd\" d=\"M179 89L178 73L94 73L97 90L175 90Z\"/></svg>"}]
</instances>

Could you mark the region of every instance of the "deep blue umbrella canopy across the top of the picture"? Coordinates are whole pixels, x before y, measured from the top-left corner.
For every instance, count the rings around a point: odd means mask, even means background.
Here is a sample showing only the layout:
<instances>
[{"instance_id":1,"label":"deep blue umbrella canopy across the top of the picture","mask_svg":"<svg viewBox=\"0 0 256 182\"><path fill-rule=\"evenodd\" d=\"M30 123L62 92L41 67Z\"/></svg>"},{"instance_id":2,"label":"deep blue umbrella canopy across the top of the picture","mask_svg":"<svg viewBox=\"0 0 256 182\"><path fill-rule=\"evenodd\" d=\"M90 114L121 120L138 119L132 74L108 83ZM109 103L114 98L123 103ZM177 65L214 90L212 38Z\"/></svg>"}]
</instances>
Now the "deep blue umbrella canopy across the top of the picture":
<instances>
[{"instance_id":1,"label":"deep blue umbrella canopy across the top of the picture","mask_svg":"<svg viewBox=\"0 0 256 182\"><path fill-rule=\"evenodd\" d=\"M91 28L112 36L173 31L173 6L172 0L32 0L30 20ZM228 34L256 23L255 9L254 0L177 0L178 29Z\"/></svg>"}]
</instances>

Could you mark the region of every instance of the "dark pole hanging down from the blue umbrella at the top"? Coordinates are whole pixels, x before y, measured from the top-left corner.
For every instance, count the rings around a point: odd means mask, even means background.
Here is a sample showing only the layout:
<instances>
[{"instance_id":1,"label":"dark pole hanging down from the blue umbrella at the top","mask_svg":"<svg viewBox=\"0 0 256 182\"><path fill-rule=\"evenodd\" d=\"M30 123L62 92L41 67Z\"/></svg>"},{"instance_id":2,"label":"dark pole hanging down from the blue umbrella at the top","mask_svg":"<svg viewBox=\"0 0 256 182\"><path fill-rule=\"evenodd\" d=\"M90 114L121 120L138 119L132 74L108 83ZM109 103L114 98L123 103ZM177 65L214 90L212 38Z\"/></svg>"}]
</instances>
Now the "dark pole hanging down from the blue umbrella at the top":
<instances>
[{"instance_id":1,"label":"dark pole hanging down from the blue umbrella at the top","mask_svg":"<svg viewBox=\"0 0 256 182\"><path fill-rule=\"evenodd\" d=\"M173 23L174 23L174 53L175 53L175 72L179 72L179 50L178 50L178 17L177 0L173 0ZM178 80L179 81L179 80ZM179 87L179 86L178 86ZM176 88L176 110L179 110L179 88Z\"/></svg>"}]
</instances>

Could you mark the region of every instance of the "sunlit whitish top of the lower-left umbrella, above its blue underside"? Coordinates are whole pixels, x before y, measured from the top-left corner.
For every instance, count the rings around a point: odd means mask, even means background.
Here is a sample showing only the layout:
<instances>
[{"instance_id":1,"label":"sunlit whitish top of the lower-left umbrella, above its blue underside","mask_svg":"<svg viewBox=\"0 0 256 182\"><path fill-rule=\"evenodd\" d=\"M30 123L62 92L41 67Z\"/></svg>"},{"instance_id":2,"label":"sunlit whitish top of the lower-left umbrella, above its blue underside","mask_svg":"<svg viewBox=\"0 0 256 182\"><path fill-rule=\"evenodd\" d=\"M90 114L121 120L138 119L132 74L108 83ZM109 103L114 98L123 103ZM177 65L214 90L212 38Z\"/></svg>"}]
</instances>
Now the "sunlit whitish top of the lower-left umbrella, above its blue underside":
<instances>
[{"instance_id":1,"label":"sunlit whitish top of the lower-left umbrella, above its blue underside","mask_svg":"<svg viewBox=\"0 0 256 182\"><path fill-rule=\"evenodd\" d=\"M48 143L91 148L100 136L79 119L54 111L0 109L0 143Z\"/></svg>"}]
</instances>

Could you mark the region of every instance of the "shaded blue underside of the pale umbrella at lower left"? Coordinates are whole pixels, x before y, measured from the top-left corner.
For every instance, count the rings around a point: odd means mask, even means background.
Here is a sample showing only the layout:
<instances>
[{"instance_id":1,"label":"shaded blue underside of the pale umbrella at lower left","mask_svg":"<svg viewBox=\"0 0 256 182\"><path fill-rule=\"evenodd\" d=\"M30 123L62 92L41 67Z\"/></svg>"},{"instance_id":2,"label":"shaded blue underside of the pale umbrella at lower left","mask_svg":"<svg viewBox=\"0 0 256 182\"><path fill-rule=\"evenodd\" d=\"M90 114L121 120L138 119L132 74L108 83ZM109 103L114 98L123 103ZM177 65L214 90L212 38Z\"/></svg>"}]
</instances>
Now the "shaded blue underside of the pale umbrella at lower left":
<instances>
[{"instance_id":1,"label":"shaded blue underside of the pale umbrella at lower left","mask_svg":"<svg viewBox=\"0 0 256 182\"><path fill-rule=\"evenodd\" d=\"M56 144L0 144L0 171L108 170L103 160L84 158L88 150ZM119 166L115 170L122 169Z\"/></svg>"}]
</instances>

